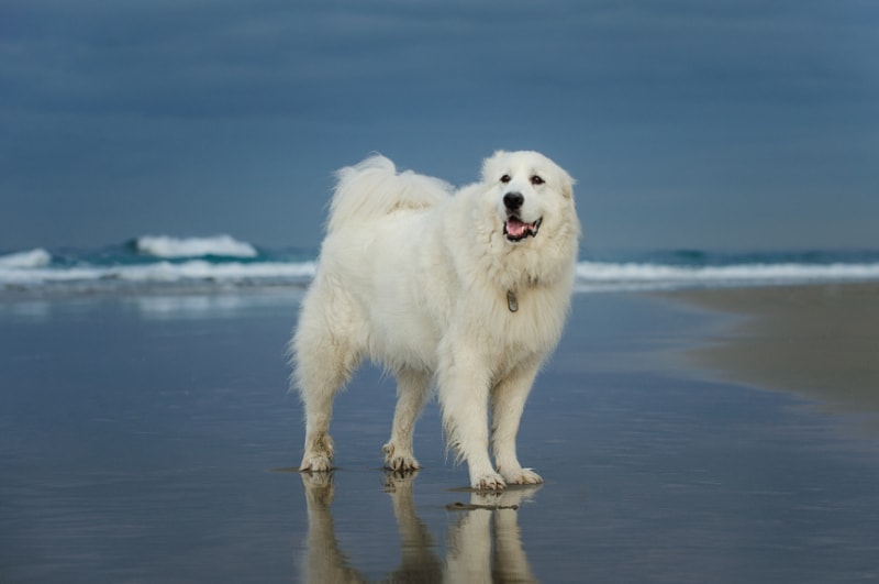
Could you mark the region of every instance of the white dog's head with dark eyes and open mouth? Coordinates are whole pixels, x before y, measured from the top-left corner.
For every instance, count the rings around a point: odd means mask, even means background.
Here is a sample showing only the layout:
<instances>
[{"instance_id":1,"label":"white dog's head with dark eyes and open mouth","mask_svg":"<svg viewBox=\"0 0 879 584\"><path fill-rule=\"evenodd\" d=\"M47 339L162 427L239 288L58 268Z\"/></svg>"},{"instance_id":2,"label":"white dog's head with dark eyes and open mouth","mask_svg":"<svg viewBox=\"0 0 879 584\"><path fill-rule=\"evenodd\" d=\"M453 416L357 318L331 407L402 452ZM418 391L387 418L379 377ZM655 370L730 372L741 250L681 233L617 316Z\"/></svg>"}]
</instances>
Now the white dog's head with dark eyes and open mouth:
<instances>
[{"instance_id":1,"label":"white dog's head with dark eyes and open mouth","mask_svg":"<svg viewBox=\"0 0 879 584\"><path fill-rule=\"evenodd\" d=\"M543 154L498 151L482 165L482 181L508 242L537 238L544 225L576 221L574 179Z\"/></svg>"}]
</instances>

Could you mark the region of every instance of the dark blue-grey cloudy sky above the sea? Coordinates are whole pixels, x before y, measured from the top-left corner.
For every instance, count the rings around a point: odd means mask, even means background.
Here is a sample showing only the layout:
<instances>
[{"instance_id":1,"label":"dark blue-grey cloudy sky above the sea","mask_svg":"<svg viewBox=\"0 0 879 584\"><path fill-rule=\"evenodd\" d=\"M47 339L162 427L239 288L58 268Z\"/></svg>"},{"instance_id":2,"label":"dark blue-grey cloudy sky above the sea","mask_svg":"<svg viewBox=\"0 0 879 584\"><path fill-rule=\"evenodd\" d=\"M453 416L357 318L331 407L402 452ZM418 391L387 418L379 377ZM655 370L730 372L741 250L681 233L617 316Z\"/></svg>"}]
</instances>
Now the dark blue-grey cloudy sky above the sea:
<instances>
[{"instance_id":1,"label":"dark blue-grey cloudy sky above the sea","mask_svg":"<svg viewBox=\"0 0 879 584\"><path fill-rule=\"evenodd\" d=\"M335 168L497 148L590 247L879 247L879 2L0 3L0 250L314 246Z\"/></svg>"}]
</instances>

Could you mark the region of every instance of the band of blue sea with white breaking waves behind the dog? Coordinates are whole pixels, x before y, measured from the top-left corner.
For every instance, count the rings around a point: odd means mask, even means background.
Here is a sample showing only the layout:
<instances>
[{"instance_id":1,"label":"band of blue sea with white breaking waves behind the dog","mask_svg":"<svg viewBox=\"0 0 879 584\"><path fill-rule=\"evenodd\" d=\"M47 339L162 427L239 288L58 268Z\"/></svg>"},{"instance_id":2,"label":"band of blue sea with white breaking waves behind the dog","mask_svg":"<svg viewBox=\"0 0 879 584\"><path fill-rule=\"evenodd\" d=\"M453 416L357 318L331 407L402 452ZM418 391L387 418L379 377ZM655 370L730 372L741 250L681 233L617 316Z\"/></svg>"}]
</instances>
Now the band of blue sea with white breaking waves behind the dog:
<instances>
[{"instance_id":1,"label":"band of blue sea with white breaking waves behind the dog","mask_svg":"<svg viewBox=\"0 0 879 584\"><path fill-rule=\"evenodd\" d=\"M269 249L230 235L144 235L90 250L0 250L0 297L304 287L316 258L316 250ZM863 280L879 280L879 250L581 250L577 265L580 293Z\"/></svg>"}]
</instances>

